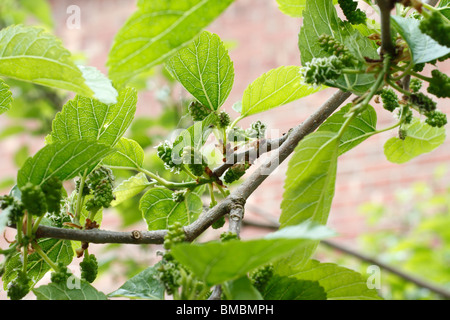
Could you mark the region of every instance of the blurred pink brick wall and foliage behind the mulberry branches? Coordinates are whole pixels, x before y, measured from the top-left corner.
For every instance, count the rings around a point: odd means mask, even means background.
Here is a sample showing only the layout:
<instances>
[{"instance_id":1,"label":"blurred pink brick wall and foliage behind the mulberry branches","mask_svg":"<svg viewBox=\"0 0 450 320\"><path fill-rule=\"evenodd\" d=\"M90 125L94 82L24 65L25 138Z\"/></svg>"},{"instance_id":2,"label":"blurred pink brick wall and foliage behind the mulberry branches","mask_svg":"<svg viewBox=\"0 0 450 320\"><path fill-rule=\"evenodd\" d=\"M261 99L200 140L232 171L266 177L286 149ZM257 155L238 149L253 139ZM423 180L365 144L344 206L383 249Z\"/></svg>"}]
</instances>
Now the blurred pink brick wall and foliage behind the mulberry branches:
<instances>
[{"instance_id":1,"label":"blurred pink brick wall and foliage behind the mulberry branches","mask_svg":"<svg viewBox=\"0 0 450 320\"><path fill-rule=\"evenodd\" d=\"M68 24L74 5L80 10L79 27ZM0 27L18 23L42 26L61 38L77 62L95 66L107 74L105 63L113 38L135 8L135 1L130 0L2 0ZM368 15L375 18L370 12ZM207 28L226 43L234 62L234 87L224 105L233 118L237 113L232 105L241 100L243 91L253 80L281 65L300 64L297 46L300 26L301 19L282 14L275 0L237 0ZM439 68L448 74L450 64L441 63ZM12 88L14 102L11 110L0 117L1 194L14 185L16 172L26 158L44 146L44 137L51 131L55 114L73 97L67 92L9 79L7 83ZM167 174L153 147L175 128L191 124L185 113L192 99L163 67L149 70L130 86L139 90L139 99L135 121L126 136L145 148L146 167L150 171ZM248 117L240 124L248 127L253 121L261 120L269 132L278 130L282 134L304 121L334 91L323 90ZM378 128L395 122L381 105L373 106L378 112ZM439 101L438 108L450 114L448 101ZM339 236L332 241L450 289L450 228L447 227L450 225L450 142L447 139L435 151L396 165L388 162L383 154L384 142L395 134L373 136L339 159L336 194L329 218L329 226ZM286 166L287 161L251 196L246 220L258 223L277 220ZM130 173L117 175L120 180ZM145 229L140 220L138 201L132 199L104 212L102 228ZM266 232L267 229L246 227L242 237ZM8 230L0 239L0 247L7 246L8 234L13 238L14 234ZM93 247L99 252L102 270L110 268L94 282L105 293L117 289L127 277L153 263L154 251L159 249L132 245ZM366 275L366 264L336 250L320 247L317 258L339 262ZM76 264L73 268L77 268ZM438 298L429 290L383 271L381 281L382 295L388 299ZM5 298L2 289L0 298Z\"/></svg>"}]
</instances>

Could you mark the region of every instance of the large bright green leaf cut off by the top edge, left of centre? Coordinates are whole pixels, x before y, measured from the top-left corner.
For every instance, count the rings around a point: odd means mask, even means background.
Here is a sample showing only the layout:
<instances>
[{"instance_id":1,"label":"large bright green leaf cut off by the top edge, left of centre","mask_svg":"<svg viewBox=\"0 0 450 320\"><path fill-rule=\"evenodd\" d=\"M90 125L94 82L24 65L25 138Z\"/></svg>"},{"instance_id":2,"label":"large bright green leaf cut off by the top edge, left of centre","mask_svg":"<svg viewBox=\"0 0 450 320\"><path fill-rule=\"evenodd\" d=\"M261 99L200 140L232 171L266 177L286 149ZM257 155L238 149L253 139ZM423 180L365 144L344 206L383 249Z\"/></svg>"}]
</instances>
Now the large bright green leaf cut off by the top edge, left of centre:
<instances>
[{"instance_id":1,"label":"large bright green leaf cut off by the top edge, left of centre","mask_svg":"<svg viewBox=\"0 0 450 320\"><path fill-rule=\"evenodd\" d=\"M119 86L188 45L233 0L140 0L119 30L108 56L109 76Z\"/></svg>"}]
</instances>

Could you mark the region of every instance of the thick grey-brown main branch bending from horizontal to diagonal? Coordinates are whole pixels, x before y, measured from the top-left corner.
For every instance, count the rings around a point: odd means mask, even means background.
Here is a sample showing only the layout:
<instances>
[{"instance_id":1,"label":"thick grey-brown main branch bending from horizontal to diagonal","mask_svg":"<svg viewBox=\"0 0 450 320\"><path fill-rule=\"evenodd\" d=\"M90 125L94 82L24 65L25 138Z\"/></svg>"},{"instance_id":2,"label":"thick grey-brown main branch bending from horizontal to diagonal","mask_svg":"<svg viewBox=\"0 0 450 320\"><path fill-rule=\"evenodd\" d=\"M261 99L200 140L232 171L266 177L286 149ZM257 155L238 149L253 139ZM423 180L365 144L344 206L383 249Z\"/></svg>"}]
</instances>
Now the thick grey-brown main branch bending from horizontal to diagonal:
<instances>
[{"instance_id":1,"label":"thick grey-brown main branch bending from horizontal to diagonal","mask_svg":"<svg viewBox=\"0 0 450 320\"><path fill-rule=\"evenodd\" d=\"M268 161L256 168L249 178L238 186L227 198L212 209L203 212L197 220L184 228L186 240L193 241L215 221L231 210L237 210L239 206L243 208L248 197L286 160L300 140L316 130L350 95L350 92L337 91L305 122L295 127ZM36 237L76 240L90 243L161 244L164 242L166 233L167 230L117 232L98 229L63 229L40 225L36 231Z\"/></svg>"}]
</instances>

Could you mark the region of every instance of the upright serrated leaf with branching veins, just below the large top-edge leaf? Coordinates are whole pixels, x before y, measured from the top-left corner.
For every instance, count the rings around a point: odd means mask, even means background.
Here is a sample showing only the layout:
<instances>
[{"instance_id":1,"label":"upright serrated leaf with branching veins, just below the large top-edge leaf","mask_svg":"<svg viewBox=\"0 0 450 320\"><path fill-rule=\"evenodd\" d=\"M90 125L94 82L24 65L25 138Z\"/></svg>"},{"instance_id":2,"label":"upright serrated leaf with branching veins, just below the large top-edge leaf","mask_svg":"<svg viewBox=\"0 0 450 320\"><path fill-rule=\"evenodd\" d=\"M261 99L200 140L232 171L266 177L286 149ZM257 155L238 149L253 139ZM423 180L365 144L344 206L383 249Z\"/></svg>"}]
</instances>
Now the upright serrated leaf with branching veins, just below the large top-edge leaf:
<instances>
[{"instance_id":1,"label":"upright serrated leaf with branching veins, just below the large top-edge leaf","mask_svg":"<svg viewBox=\"0 0 450 320\"><path fill-rule=\"evenodd\" d=\"M170 58L167 69L211 110L223 105L233 87L233 62L219 36L208 31Z\"/></svg>"}]
</instances>

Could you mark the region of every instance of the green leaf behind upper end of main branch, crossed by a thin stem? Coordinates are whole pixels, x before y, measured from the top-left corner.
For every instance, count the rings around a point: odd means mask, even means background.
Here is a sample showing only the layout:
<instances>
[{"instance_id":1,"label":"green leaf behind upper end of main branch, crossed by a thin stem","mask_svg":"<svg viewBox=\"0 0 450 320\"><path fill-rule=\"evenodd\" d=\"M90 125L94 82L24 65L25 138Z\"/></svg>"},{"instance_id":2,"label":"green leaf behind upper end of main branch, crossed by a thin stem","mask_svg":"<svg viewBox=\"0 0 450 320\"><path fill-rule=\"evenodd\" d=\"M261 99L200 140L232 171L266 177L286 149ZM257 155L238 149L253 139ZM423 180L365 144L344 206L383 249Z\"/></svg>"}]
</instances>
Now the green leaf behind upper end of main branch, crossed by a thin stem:
<instances>
[{"instance_id":1,"label":"green leaf behind upper end of main branch, crossed by a thin stem","mask_svg":"<svg viewBox=\"0 0 450 320\"><path fill-rule=\"evenodd\" d=\"M351 108L351 103L342 107L338 112L329 117L317 131L329 131L338 133L344 124L346 113ZM371 133L376 131L377 113L372 106L361 112L357 117L351 120L349 126L344 131L339 141L339 155L353 149L358 144L370 137Z\"/></svg>"}]
</instances>

